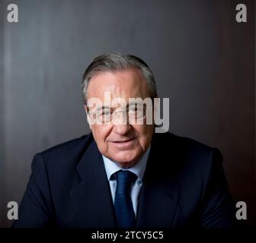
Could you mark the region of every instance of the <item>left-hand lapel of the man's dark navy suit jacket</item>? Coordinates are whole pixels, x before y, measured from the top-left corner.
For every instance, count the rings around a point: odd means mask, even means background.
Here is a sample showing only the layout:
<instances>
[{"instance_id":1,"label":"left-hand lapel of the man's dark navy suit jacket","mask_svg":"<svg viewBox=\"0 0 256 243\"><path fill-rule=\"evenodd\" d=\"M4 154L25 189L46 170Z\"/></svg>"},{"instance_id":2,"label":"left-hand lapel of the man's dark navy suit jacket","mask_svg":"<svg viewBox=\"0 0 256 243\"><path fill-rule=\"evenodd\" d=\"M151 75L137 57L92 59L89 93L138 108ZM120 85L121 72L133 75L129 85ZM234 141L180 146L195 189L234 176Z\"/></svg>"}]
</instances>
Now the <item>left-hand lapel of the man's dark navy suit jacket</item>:
<instances>
[{"instance_id":1,"label":"left-hand lapel of the man's dark navy suit jacket","mask_svg":"<svg viewBox=\"0 0 256 243\"><path fill-rule=\"evenodd\" d=\"M70 191L72 225L115 227L114 205L101 153L94 140L77 166L82 181Z\"/></svg>"}]
</instances>

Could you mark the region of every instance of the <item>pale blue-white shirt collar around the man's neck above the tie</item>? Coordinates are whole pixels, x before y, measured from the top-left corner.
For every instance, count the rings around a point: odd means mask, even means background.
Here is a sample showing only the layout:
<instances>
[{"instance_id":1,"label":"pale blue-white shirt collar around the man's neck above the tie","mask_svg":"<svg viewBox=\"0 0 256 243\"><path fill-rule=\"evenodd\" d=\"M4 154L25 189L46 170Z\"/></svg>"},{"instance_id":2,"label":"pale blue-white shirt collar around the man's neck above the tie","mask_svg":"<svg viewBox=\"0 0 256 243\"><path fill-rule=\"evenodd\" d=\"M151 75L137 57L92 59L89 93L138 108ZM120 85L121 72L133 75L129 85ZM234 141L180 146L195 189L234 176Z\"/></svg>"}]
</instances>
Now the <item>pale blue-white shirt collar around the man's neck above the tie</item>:
<instances>
[{"instance_id":1,"label":"pale blue-white shirt collar around the man's neck above the tie","mask_svg":"<svg viewBox=\"0 0 256 243\"><path fill-rule=\"evenodd\" d=\"M102 155L108 181L110 181L111 175L113 175L115 172L119 171L120 169L130 170L130 172L133 172L135 175L138 176L139 180L142 181L142 178L146 169L146 163L149 157L149 150L150 150L150 146L146 150L146 153L142 155L142 158L139 159L139 162L136 163L133 167L130 167L129 169L121 168L120 166L117 165L117 163L114 163L113 160L108 159L107 157Z\"/></svg>"}]
</instances>

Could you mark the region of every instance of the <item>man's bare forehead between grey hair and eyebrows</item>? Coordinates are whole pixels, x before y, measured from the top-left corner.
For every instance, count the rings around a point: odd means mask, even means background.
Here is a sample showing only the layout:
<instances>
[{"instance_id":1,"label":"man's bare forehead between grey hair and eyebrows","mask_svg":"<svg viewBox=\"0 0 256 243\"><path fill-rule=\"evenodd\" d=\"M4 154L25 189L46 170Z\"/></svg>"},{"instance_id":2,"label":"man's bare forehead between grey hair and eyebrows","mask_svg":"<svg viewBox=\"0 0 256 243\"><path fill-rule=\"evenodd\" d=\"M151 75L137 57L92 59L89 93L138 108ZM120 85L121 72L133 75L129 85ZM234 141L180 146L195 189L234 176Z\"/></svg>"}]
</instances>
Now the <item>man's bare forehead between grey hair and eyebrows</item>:
<instances>
[{"instance_id":1,"label":"man's bare forehead between grey hair and eyebrows","mask_svg":"<svg viewBox=\"0 0 256 243\"><path fill-rule=\"evenodd\" d=\"M110 93L111 99L149 97L146 80L137 69L127 69L115 72L102 72L91 77L88 85L88 99L99 98L104 100L104 94Z\"/></svg>"}]
</instances>

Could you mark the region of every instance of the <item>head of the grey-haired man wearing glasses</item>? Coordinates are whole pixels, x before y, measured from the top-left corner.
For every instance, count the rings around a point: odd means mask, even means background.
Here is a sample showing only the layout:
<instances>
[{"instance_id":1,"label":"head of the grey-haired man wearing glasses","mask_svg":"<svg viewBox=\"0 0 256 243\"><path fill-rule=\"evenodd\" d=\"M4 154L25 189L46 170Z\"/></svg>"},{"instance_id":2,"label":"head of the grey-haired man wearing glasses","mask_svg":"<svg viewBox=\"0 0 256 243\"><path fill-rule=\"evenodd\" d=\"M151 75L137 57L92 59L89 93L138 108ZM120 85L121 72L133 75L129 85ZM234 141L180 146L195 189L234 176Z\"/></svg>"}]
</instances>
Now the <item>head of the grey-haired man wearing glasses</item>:
<instances>
[{"instance_id":1,"label":"head of the grey-haired man wearing glasses","mask_svg":"<svg viewBox=\"0 0 256 243\"><path fill-rule=\"evenodd\" d=\"M148 65L136 56L117 52L98 56L85 71L82 94L91 132L100 152L123 168L136 164L149 148L154 125L146 124L145 117L141 122L130 122L126 112L133 106L130 98L157 97L154 76ZM110 99L106 99L106 94ZM88 106L92 99L101 102L94 103L94 107ZM91 124L91 111L102 109L113 113L111 121ZM125 111L125 114L118 111ZM114 121L116 119L121 122Z\"/></svg>"}]
</instances>

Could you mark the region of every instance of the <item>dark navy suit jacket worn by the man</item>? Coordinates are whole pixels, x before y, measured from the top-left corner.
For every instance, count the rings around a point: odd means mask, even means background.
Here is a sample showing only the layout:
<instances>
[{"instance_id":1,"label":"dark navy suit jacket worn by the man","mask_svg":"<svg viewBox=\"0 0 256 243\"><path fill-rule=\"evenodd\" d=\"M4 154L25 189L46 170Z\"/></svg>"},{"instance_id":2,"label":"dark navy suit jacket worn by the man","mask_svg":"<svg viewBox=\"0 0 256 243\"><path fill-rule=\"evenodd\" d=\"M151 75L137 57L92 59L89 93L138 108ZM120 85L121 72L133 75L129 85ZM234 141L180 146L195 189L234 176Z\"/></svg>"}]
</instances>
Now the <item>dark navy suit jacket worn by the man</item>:
<instances>
[{"instance_id":1,"label":"dark navy suit jacket worn by the man","mask_svg":"<svg viewBox=\"0 0 256 243\"><path fill-rule=\"evenodd\" d=\"M116 227L104 163L91 134L34 156L13 227ZM219 150L154 134L136 227L226 228L232 198Z\"/></svg>"}]
</instances>

